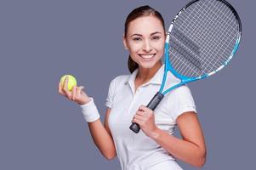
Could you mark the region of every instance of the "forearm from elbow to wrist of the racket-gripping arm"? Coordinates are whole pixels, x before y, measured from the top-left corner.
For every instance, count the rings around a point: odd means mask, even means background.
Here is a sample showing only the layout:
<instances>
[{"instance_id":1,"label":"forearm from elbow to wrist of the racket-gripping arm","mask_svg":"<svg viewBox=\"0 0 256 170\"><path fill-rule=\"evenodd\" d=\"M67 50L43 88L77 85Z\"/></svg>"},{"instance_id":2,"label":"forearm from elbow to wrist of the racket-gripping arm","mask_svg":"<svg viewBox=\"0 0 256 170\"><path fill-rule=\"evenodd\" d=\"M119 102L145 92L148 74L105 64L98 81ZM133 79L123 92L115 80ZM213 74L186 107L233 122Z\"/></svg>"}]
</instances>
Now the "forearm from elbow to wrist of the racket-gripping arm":
<instances>
[{"instance_id":1,"label":"forearm from elbow to wrist of the racket-gripping arm","mask_svg":"<svg viewBox=\"0 0 256 170\"><path fill-rule=\"evenodd\" d=\"M157 128L156 133L154 133L151 138L154 139L157 144L162 146L162 148L168 150L172 156L181 161L185 161L196 167L202 167L204 164L204 149L190 141L178 139L159 128Z\"/></svg>"}]
</instances>

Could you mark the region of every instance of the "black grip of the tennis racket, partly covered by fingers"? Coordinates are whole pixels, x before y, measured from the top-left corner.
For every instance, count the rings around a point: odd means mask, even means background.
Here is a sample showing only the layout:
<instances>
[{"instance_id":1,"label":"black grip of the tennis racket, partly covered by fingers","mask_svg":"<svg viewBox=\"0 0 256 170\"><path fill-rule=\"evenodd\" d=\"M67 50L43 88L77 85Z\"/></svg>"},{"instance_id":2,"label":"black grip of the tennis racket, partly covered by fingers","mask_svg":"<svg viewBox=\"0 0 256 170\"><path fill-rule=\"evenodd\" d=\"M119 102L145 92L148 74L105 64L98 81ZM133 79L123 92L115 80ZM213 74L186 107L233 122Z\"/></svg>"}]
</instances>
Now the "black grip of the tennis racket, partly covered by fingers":
<instances>
[{"instance_id":1,"label":"black grip of the tennis racket, partly covered by fingers","mask_svg":"<svg viewBox=\"0 0 256 170\"><path fill-rule=\"evenodd\" d=\"M164 97L163 94L160 92L157 92L155 96L151 99L150 103L146 105L147 108L151 109L154 111L156 109L156 106L159 105L161 102L162 98ZM129 127L134 133L139 133L140 127L139 124L136 122L133 122L132 125Z\"/></svg>"}]
</instances>

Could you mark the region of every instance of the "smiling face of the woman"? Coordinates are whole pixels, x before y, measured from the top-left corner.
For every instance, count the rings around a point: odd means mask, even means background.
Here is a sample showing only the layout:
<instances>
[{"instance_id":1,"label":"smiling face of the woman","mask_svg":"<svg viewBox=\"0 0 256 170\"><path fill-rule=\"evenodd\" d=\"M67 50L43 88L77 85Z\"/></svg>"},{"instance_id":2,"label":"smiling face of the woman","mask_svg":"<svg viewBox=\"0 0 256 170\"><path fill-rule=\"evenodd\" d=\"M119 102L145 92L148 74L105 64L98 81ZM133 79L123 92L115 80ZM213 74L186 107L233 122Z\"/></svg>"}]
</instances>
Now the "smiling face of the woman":
<instances>
[{"instance_id":1,"label":"smiling face of the woman","mask_svg":"<svg viewBox=\"0 0 256 170\"><path fill-rule=\"evenodd\" d=\"M165 32L162 22L155 16L144 16L128 25L124 47L142 68L152 68L164 53Z\"/></svg>"}]
</instances>

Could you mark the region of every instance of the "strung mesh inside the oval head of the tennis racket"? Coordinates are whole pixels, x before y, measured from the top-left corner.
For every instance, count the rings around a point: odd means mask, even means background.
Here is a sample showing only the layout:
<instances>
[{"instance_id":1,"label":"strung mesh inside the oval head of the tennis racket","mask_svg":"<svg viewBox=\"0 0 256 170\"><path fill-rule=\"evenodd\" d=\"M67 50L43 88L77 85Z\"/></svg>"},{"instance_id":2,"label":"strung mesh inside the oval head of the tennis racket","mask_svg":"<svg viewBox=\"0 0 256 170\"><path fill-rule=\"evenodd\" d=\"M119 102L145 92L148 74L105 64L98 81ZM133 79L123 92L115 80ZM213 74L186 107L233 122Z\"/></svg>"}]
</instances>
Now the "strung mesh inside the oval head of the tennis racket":
<instances>
[{"instance_id":1,"label":"strung mesh inside the oval head of the tennis racket","mask_svg":"<svg viewBox=\"0 0 256 170\"><path fill-rule=\"evenodd\" d=\"M238 26L224 3L202 0L179 14L173 30L168 50L172 66L181 75L199 77L229 59Z\"/></svg>"}]
</instances>

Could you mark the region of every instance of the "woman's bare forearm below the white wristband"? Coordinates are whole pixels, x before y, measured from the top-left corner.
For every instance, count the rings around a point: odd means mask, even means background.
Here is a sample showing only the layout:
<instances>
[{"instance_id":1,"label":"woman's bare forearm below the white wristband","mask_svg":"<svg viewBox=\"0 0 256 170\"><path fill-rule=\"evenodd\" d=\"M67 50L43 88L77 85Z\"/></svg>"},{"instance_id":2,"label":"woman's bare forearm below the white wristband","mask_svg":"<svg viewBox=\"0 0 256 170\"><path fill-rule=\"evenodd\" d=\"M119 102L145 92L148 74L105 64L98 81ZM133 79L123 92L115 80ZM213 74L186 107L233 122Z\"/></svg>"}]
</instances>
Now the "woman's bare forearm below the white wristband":
<instances>
[{"instance_id":1,"label":"woman's bare forearm below the white wristband","mask_svg":"<svg viewBox=\"0 0 256 170\"><path fill-rule=\"evenodd\" d=\"M115 157L115 144L111 138L111 135L107 133L102 122L100 122L100 119L95 122L88 122L88 127L94 140L94 144L96 144L102 155L108 160Z\"/></svg>"}]
</instances>

